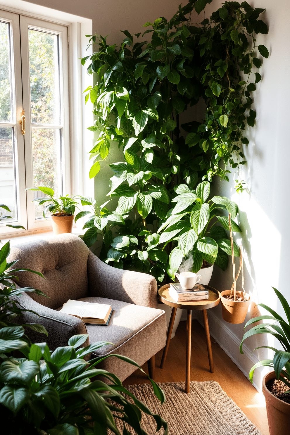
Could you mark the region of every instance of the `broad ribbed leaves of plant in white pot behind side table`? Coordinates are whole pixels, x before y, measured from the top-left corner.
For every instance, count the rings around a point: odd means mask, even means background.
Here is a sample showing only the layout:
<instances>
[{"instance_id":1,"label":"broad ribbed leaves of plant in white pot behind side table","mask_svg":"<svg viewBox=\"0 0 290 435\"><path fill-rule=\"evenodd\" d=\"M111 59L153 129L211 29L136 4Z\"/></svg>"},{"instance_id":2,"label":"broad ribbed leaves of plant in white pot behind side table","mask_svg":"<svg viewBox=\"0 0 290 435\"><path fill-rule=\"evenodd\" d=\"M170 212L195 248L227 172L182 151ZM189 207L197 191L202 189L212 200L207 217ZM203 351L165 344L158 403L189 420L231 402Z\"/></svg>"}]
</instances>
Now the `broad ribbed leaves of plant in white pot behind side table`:
<instances>
[{"instance_id":1,"label":"broad ribbed leaves of plant in white pot behind side table","mask_svg":"<svg viewBox=\"0 0 290 435\"><path fill-rule=\"evenodd\" d=\"M239 248L228 239L226 230L229 230L227 217L220 216L222 211L237 216L238 207L226 197L214 196L207 201L210 195L210 183L202 181L196 190L190 189L186 184L174 187L177 194L172 199L176 203L167 214L165 222L160 226L158 243L163 249L169 242L177 243L169 255L169 269L167 273L173 280L174 274L185 264L187 271L200 273L204 261L217 264L222 270L227 268L228 255L239 256ZM213 219L216 221L213 221ZM240 227L231 220L234 231L240 232ZM221 225L218 225L220 223ZM185 271L185 269L184 269Z\"/></svg>"}]
</instances>

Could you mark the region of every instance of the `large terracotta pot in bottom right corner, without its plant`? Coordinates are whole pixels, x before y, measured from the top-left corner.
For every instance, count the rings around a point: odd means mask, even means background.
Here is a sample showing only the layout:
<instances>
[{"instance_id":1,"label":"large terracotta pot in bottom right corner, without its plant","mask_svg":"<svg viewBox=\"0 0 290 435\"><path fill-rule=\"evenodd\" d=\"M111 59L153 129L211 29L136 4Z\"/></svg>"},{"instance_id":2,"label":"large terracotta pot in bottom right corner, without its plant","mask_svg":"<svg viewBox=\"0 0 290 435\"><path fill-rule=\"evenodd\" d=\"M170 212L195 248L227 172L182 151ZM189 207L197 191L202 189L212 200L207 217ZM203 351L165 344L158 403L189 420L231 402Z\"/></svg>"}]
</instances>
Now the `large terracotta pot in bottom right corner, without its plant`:
<instances>
[{"instance_id":1,"label":"large terracotta pot in bottom right corner, without its plant","mask_svg":"<svg viewBox=\"0 0 290 435\"><path fill-rule=\"evenodd\" d=\"M270 435L289 435L290 431L290 403L275 397L266 384L276 378L275 372L270 371L263 378L262 391L266 399L267 417Z\"/></svg>"}]
</instances>

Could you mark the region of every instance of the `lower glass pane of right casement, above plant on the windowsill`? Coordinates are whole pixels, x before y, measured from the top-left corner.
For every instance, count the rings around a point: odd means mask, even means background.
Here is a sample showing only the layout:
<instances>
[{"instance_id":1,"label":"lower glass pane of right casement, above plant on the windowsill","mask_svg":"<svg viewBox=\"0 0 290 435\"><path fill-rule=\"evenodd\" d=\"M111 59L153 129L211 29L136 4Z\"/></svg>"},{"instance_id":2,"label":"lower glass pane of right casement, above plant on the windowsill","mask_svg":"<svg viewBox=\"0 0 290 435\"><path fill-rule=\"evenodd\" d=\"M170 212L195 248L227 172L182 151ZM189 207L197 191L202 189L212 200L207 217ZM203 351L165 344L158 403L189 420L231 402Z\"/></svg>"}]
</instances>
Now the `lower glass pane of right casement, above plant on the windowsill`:
<instances>
[{"instance_id":1,"label":"lower glass pane of right casement, above plant on the windowsill","mask_svg":"<svg viewBox=\"0 0 290 435\"><path fill-rule=\"evenodd\" d=\"M57 128L33 128L33 182L34 187L44 186L62 195L60 130ZM44 196L36 191L35 197ZM43 218L43 206L36 204L36 218Z\"/></svg>"}]
</instances>

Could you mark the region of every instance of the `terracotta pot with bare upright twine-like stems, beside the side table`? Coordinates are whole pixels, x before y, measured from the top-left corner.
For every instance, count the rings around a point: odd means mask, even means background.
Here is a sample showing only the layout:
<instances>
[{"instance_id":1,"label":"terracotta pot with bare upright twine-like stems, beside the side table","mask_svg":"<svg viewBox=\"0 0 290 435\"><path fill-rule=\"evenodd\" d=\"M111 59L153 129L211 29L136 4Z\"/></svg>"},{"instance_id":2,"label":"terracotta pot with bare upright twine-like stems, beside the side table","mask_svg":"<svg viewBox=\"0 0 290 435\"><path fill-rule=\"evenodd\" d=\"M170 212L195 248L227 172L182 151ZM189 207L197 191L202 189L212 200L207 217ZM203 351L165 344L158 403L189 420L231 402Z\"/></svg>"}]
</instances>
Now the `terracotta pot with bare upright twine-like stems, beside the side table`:
<instances>
[{"instance_id":1,"label":"terracotta pot with bare upright twine-like stems, beside the side table","mask_svg":"<svg viewBox=\"0 0 290 435\"><path fill-rule=\"evenodd\" d=\"M233 234L232 223L229 214L229 228L230 228L230 243L233 247ZM242 245L240 245L240 268L236 276L235 260L232 255L233 264L233 285L231 290L224 290L220 293L220 300L222 303L222 316L223 320L228 323L243 323L246 318L249 305L251 304L251 297L245 292L243 288L243 253ZM242 289L243 291L237 291L237 279L239 278L240 271L242 271Z\"/></svg>"}]
</instances>

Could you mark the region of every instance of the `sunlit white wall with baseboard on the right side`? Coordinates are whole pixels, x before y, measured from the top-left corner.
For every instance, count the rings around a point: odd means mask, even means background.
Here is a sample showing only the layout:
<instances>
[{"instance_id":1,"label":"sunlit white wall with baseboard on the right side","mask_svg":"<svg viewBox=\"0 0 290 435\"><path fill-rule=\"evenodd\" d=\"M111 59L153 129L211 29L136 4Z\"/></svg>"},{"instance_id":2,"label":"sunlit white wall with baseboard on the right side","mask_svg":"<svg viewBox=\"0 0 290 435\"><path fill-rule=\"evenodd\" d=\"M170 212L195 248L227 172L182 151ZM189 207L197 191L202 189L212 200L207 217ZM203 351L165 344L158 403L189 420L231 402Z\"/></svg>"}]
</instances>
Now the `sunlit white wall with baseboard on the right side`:
<instances>
[{"instance_id":1,"label":"sunlit white wall with baseboard on the right side","mask_svg":"<svg viewBox=\"0 0 290 435\"><path fill-rule=\"evenodd\" d=\"M262 80L253 92L253 109L257 111L255 127L249 127L247 137L250 144L244 147L247 165L243 167L241 178L247 181L248 188L241 194L235 193L234 179L230 182L217 181L217 194L230 197L236 201L239 209L239 224L243 230L241 238L236 234L237 243L242 241L245 250L245 288L256 303L263 303L280 315L283 308L272 290L276 287L290 302L289 288L289 100L288 86L290 70L289 25L290 2L288 0L253 0L252 7L266 8L262 19L269 27L267 35L257 36L257 45L265 45L270 53L263 59L260 67ZM213 0L207 6L217 10L221 0ZM259 53L258 57L262 59ZM229 263L230 264L230 263ZM237 265L237 264L236 264ZM210 284L218 290L226 290L233 282L232 269L224 273L214 270ZM261 314L266 314L260 308ZM252 305L247 319L259 315ZM245 347L246 355L240 355L238 346L243 337L243 325L230 325L221 320L220 306L211 310L211 333L224 350L235 360L237 365L248 375L251 366L259 359L267 358L266 350L250 351L263 343L274 345L268 335L248 339ZM277 343L275 343L276 345ZM275 347L274 345L274 347ZM279 344L277 344L278 346ZM271 351L270 351L271 352ZM269 354L272 358L273 354ZM263 374L268 369L263 370ZM260 388L262 375L257 371L254 375L256 388Z\"/></svg>"}]
</instances>

